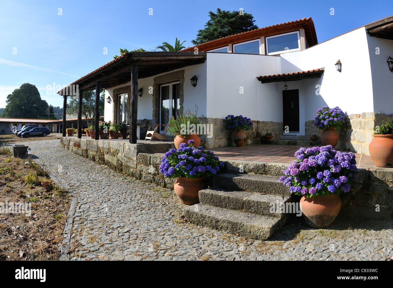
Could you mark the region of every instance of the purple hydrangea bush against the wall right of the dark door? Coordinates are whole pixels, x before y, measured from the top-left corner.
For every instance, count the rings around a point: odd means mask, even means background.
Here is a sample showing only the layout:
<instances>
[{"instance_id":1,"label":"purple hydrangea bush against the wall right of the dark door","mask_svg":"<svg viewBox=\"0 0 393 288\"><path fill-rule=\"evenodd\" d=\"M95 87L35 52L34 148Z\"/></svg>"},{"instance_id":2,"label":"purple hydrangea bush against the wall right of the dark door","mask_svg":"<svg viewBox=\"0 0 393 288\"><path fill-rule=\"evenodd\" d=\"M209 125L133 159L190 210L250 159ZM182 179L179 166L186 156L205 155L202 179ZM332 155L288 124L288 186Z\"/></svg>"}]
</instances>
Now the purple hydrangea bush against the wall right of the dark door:
<instances>
[{"instance_id":1,"label":"purple hydrangea bush against the wall right of the dark door","mask_svg":"<svg viewBox=\"0 0 393 288\"><path fill-rule=\"evenodd\" d=\"M329 106L323 106L317 110L314 125L319 129L326 130L329 127L335 127L340 129L345 123L344 112L338 108L329 108Z\"/></svg>"}]
</instances>

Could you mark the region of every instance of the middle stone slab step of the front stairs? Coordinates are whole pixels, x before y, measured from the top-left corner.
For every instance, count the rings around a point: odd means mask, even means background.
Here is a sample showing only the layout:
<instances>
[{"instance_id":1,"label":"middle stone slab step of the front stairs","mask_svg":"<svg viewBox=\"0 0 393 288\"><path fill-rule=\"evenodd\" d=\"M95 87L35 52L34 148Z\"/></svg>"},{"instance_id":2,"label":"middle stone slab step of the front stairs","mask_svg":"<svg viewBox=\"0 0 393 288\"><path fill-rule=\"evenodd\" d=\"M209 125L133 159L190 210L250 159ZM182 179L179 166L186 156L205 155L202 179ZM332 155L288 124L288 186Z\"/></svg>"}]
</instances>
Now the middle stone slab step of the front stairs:
<instances>
[{"instance_id":1,"label":"middle stone slab step of the front stairs","mask_svg":"<svg viewBox=\"0 0 393 288\"><path fill-rule=\"evenodd\" d=\"M199 191L199 201L202 204L239 210L244 213L284 218L287 215L279 213L278 207L290 202L291 196L209 188Z\"/></svg>"}]
</instances>

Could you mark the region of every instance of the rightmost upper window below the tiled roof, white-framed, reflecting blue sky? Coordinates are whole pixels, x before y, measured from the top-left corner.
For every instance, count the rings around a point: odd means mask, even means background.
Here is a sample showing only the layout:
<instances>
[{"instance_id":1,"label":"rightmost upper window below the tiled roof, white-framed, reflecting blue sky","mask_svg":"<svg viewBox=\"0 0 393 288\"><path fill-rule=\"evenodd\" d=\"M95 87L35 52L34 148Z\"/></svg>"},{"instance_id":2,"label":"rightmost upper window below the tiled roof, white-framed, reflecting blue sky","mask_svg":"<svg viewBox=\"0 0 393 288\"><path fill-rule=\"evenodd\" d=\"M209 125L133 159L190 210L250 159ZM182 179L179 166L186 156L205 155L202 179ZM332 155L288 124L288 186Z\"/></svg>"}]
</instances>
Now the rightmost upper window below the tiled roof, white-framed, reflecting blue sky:
<instances>
[{"instance_id":1,"label":"rightmost upper window below the tiled roof, white-framed, reflecting blue sky","mask_svg":"<svg viewBox=\"0 0 393 288\"><path fill-rule=\"evenodd\" d=\"M266 37L268 55L300 50L299 31Z\"/></svg>"}]
</instances>

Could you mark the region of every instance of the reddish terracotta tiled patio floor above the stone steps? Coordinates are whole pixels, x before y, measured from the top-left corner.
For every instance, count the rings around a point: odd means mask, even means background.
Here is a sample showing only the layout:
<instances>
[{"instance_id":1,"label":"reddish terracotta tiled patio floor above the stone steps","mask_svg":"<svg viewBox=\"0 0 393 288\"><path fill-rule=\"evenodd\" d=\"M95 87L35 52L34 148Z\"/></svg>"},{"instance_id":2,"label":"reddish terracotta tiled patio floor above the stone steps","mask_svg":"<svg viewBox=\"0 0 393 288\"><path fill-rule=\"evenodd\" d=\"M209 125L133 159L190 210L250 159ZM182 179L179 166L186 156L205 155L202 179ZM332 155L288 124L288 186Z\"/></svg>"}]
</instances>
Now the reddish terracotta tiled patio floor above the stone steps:
<instances>
[{"instance_id":1,"label":"reddish terracotta tiled patio floor above the stone steps","mask_svg":"<svg viewBox=\"0 0 393 288\"><path fill-rule=\"evenodd\" d=\"M306 146L308 148L311 146ZM219 147L213 150L220 160L256 161L265 163L290 163L295 160L296 145L246 145L244 147ZM347 152L347 151L343 151ZM355 153L359 168L375 168L370 156ZM381 168L392 169L393 168Z\"/></svg>"}]
</instances>

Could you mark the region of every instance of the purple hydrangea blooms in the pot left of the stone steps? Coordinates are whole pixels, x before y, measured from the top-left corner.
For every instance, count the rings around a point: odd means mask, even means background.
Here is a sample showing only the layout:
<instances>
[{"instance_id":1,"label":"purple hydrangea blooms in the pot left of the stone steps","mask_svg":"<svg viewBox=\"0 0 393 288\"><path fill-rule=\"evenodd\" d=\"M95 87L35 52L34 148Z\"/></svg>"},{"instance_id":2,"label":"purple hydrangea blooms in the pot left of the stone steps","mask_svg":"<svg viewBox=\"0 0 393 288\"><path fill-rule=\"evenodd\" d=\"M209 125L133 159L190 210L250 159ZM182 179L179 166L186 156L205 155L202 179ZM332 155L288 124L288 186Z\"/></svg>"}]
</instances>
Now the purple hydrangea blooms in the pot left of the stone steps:
<instances>
[{"instance_id":1,"label":"purple hydrangea blooms in the pot left of the stone steps","mask_svg":"<svg viewBox=\"0 0 393 288\"><path fill-rule=\"evenodd\" d=\"M204 177L217 174L224 162L219 161L212 151L204 151L203 147L193 147L194 140L180 144L178 150L170 149L165 153L158 167L165 178Z\"/></svg>"}]
</instances>

